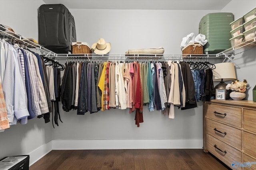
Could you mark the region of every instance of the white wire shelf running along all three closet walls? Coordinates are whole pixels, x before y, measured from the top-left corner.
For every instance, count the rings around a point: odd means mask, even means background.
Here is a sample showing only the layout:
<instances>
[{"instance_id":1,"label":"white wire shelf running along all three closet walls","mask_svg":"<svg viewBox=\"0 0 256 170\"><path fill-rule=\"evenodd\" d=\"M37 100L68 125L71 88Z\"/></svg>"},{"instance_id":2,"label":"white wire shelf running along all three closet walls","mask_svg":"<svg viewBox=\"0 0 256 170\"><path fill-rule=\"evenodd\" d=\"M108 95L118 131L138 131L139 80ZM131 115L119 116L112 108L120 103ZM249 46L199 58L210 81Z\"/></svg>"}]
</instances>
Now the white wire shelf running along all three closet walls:
<instances>
[{"instance_id":1,"label":"white wire shelf running along all three closet walls","mask_svg":"<svg viewBox=\"0 0 256 170\"><path fill-rule=\"evenodd\" d=\"M233 61L235 55L242 53L248 49L256 46L256 38L241 43L235 47L222 51L218 54L56 54L42 45L34 43L21 35L9 31L0 25L0 38L10 39L13 43L18 43L26 48L34 48L39 50L41 55L45 57L55 58L74 58L74 59L113 59L113 60L132 60L132 59L148 59L148 60L186 60L186 59L218 59L224 58L223 62L227 60ZM234 63L234 62L233 62ZM234 63L235 64L235 63Z\"/></svg>"}]
</instances>

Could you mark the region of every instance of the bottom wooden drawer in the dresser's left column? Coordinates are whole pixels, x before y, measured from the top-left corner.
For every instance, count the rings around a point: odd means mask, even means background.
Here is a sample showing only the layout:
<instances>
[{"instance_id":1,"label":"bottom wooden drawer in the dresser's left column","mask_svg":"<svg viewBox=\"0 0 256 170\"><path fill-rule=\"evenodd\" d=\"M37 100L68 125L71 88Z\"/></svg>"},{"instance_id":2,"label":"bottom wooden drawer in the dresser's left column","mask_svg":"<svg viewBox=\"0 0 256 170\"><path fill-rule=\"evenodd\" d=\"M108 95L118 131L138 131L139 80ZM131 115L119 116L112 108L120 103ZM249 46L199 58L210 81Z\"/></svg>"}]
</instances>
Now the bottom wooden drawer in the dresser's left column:
<instances>
[{"instance_id":1,"label":"bottom wooden drawer in the dresser's left column","mask_svg":"<svg viewBox=\"0 0 256 170\"><path fill-rule=\"evenodd\" d=\"M232 168L233 161L242 162L242 152L209 134L206 134L206 149L230 168ZM236 169L241 170L242 168L238 166Z\"/></svg>"}]
</instances>

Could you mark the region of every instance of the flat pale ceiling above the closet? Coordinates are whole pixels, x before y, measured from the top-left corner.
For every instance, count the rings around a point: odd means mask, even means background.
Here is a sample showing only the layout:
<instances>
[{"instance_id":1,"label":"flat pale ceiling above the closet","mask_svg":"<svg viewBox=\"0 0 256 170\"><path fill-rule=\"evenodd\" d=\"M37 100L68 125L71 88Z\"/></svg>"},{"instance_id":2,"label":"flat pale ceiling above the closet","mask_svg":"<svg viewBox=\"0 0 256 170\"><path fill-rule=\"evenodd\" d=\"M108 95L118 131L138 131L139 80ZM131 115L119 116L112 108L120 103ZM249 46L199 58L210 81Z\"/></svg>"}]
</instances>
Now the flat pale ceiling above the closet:
<instances>
[{"instance_id":1,"label":"flat pale ceiling above the closet","mask_svg":"<svg viewBox=\"0 0 256 170\"><path fill-rule=\"evenodd\" d=\"M231 0L43 0L68 9L222 10Z\"/></svg>"}]
</instances>

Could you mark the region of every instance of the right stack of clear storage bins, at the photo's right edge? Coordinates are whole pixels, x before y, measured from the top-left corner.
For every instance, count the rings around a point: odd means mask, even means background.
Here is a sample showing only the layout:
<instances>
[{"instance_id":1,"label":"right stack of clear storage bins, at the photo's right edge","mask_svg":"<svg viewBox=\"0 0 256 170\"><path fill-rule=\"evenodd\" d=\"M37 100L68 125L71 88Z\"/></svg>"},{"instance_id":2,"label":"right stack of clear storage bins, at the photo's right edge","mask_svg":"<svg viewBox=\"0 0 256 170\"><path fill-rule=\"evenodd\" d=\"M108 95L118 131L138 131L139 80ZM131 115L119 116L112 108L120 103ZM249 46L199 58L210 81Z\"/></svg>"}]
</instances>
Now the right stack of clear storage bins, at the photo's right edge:
<instances>
[{"instance_id":1,"label":"right stack of clear storage bins, at the photo's right edge","mask_svg":"<svg viewBox=\"0 0 256 170\"><path fill-rule=\"evenodd\" d=\"M256 38L256 8L244 15L244 38L245 41L252 42Z\"/></svg>"}]
</instances>

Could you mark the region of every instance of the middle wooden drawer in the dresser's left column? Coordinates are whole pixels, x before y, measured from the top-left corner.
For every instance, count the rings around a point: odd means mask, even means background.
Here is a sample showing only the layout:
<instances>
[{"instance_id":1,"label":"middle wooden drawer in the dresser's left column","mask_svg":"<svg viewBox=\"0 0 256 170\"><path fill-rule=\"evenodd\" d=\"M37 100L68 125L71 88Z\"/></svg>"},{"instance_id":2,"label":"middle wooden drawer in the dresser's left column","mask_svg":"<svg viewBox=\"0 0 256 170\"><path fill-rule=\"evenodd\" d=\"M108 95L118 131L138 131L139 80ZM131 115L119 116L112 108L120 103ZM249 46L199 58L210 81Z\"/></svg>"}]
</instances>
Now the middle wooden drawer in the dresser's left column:
<instances>
[{"instance_id":1,"label":"middle wooden drawer in the dresser's left column","mask_svg":"<svg viewBox=\"0 0 256 170\"><path fill-rule=\"evenodd\" d=\"M242 131L239 129L206 118L206 133L242 149Z\"/></svg>"}]
</instances>

